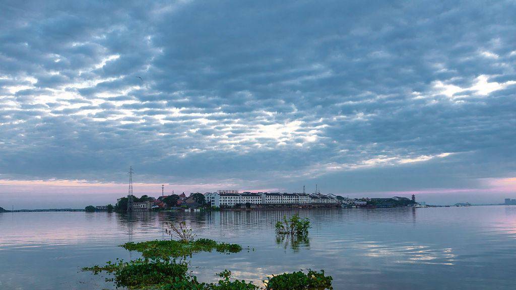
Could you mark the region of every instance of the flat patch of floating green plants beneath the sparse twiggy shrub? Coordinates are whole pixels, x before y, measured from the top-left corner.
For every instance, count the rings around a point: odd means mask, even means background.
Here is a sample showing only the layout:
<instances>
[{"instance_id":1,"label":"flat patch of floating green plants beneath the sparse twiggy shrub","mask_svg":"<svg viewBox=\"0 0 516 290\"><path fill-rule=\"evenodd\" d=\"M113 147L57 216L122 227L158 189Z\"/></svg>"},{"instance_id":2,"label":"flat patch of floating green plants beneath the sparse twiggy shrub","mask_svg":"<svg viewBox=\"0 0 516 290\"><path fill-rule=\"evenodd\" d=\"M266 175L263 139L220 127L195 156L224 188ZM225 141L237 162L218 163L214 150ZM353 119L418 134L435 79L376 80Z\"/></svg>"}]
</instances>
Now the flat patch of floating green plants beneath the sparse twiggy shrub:
<instances>
[{"instance_id":1,"label":"flat patch of floating green plants beneath the sparse twiggy shrub","mask_svg":"<svg viewBox=\"0 0 516 290\"><path fill-rule=\"evenodd\" d=\"M145 258L157 257L169 260L170 257L188 257L199 252L238 253L242 247L237 244L217 243L212 239L200 238L195 241L151 240L141 243L125 243L120 247L129 251L141 252Z\"/></svg>"}]
</instances>

